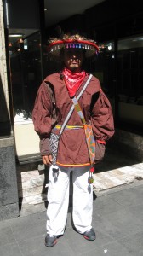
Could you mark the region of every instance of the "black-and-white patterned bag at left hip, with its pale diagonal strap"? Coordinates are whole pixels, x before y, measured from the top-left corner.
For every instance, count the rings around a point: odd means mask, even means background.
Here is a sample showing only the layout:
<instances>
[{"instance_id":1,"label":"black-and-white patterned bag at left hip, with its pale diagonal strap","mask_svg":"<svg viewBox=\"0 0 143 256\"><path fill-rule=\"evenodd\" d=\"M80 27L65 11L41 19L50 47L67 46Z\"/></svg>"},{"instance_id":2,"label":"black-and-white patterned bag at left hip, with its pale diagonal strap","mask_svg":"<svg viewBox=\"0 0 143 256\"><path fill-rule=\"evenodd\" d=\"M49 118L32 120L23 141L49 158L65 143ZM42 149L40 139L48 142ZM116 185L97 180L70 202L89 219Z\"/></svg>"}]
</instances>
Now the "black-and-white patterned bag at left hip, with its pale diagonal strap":
<instances>
[{"instance_id":1,"label":"black-and-white patterned bag at left hip, with its pale diagonal strap","mask_svg":"<svg viewBox=\"0 0 143 256\"><path fill-rule=\"evenodd\" d=\"M87 79L86 83L83 85L83 89L80 91L79 95L77 96L77 100L82 96L83 91L86 89L86 87L89 84L90 79L92 78L92 74L89 75L89 78ZM72 105L72 108L70 109L69 113L66 116L66 119L63 123L63 125L61 126L60 129L60 134L54 134L54 132L51 132L50 134L50 139L49 139L49 145L50 145L50 149L51 149L51 153L52 153L52 164L55 166L56 165L56 159L57 159L57 154L58 154L58 145L59 145L59 141L60 141L60 136L62 134L62 132L64 131L66 124L68 122L68 120L70 119L72 112L74 110L74 104Z\"/></svg>"}]
</instances>

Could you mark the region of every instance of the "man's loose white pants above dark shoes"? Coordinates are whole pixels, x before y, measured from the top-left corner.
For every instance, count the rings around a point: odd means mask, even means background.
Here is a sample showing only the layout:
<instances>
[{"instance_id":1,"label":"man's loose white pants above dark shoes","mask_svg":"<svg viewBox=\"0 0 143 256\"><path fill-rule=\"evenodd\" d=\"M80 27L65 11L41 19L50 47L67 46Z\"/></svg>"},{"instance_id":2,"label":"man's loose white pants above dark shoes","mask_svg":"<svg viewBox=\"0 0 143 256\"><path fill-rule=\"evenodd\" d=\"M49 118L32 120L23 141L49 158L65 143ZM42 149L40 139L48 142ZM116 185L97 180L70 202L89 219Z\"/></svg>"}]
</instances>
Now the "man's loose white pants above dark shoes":
<instances>
[{"instance_id":1,"label":"man's loose white pants above dark shoes","mask_svg":"<svg viewBox=\"0 0 143 256\"><path fill-rule=\"evenodd\" d=\"M69 205L70 172L72 172L72 218L75 228L82 234L92 228L93 185L88 182L89 166L58 167L57 178L54 176L54 166L49 167L47 233L50 235L64 233Z\"/></svg>"}]
</instances>

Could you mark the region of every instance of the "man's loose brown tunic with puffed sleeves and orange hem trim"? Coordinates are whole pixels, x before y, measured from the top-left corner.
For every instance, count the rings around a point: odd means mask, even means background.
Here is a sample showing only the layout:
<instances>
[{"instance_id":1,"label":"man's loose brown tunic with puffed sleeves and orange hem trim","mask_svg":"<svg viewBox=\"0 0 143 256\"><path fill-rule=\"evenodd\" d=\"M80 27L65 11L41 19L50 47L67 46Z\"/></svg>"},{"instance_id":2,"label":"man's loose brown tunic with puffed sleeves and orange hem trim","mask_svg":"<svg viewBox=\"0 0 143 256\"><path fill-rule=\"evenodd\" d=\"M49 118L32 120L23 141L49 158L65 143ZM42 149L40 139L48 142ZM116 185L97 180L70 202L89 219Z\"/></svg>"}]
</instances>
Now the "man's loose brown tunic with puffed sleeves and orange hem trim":
<instances>
[{"instance_id":1,"label":"man's loose brown tunic with puffed sleeves and orange hem trim","mask_svg":"<svg viewBox=\"0 0 143 256\"><path fill-rule=\"evenodd\" d=\"M86 75L83 84L88 77L89 74ZM77 90L76 96L82 90L83 84ZM55 102L53 95L55 96ZM94 76L78 102L87 123L92 124L95 139L105 142L109 140L114 134L112 108L100 88L99 80ZM65 82L60 79L60 73L51 74L44 79L37 92L32 112L35 131L37 131L41 140L40 151L42 155L51 154L49 147L50 132L55 124L63 124L71 106L72 99L68 94ZM68 125L83 125L76 110L73 111ZM101 147L103 147L103 144ZM89 165L89 153L83 129L65 129L63 131L60 137L57 163L63 166Z\"/></svg>"}]
</instances>

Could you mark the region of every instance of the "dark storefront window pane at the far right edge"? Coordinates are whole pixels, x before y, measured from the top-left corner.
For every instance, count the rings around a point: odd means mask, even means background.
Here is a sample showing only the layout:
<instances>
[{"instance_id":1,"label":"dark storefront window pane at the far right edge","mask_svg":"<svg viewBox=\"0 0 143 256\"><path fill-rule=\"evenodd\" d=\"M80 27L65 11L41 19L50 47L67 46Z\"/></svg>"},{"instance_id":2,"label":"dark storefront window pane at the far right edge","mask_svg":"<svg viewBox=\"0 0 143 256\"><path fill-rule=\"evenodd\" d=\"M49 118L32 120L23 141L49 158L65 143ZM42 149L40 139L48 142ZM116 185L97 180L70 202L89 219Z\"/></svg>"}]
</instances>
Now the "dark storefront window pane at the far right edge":
<instances>
[{"instance_id":1,"label":"dark storefront window pane at the far right edge","mask_svg":"<svg viewBox=\"0 0 143 256\"><path fill-rule=\"evenodd\" d=\"M117 91L120 124L143 126L143 35L118 40Z\"/></svg>"}]
</instances>

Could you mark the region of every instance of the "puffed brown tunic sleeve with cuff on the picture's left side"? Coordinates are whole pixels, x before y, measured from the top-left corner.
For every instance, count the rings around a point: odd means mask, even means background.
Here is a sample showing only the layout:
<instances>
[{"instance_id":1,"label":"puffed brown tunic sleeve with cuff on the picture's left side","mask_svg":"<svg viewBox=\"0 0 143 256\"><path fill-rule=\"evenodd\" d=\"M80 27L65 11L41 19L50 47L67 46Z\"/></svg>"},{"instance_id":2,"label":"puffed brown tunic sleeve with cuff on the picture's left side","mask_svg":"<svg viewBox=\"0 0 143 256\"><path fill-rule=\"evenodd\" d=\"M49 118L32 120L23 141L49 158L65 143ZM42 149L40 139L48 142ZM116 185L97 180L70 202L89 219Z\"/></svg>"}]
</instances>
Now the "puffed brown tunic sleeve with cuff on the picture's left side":
<instances>
[{"instance_id":1,"label":"puffed brown tunic sleeve with cuff on the picture's left side","mask_svg":"<svg viewBox=\"0 0 143 256\"><path fill-rule=\"evenodd\" d=\"M34 108L32 111L32 120L34 129L40 138L40 153L41 155L51 154L49 146L49 135L51 131L51 100L47 85L43 81L37 91Z\"/></svg>"}]
</instances>

